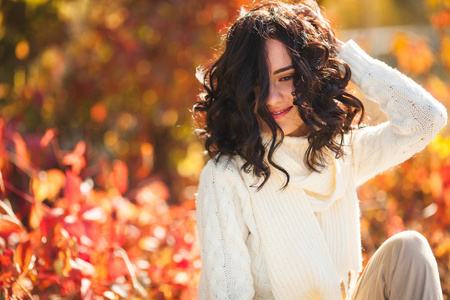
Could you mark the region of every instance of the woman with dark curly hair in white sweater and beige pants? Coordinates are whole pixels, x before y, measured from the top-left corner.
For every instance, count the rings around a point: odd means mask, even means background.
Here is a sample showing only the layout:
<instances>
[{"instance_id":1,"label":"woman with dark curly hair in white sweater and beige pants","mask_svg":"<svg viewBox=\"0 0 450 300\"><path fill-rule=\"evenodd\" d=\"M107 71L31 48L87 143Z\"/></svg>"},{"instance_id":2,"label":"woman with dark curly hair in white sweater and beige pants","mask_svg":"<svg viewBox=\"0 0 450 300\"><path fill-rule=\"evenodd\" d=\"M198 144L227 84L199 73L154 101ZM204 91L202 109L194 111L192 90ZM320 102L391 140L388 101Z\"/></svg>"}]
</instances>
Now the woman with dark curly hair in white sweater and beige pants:
<instances>
[{"instance_id":1,"label":"woman with dark curly hair in white sweater and beige pants","mask_svg":"<svg viewBox=\"0 0 450 300\"><path fill-rule=\"evenodd\" d=\"M442 299L426 239L388 239L362 271L356 187L447 122L411 79L342 43L313 2L241 15L194 106L211 160L197 197L200 299ZM359 126L351 80L389 121Z\"/></svg>"}]
</instances>

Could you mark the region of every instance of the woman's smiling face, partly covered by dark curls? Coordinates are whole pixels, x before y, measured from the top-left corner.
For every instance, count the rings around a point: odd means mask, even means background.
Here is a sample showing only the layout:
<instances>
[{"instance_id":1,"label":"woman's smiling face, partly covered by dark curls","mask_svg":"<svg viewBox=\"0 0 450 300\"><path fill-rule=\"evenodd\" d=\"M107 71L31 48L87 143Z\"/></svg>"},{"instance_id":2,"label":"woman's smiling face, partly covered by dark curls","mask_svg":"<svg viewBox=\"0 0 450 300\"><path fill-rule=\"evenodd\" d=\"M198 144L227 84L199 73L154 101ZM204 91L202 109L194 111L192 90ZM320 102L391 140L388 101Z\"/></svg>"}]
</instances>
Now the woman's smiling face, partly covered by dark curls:
<instances>
[{"instance_id":1,"label":"woman's smiling face, partly covered by dark curls","mask_svg":"<svg viewBox=\"0 0 450 300\"><path fill-rule=\"evenodd\" d=\"M267 108L284 135L304 136L308 133L305 124L298 114L298 107L293 104L294 67L286 47L276 40L267 40L267 63L269 68L269 96ZM259 96L259 89L255 91ZM263 131L270 132L267 124Z\"/></svg>"}]
</instances>

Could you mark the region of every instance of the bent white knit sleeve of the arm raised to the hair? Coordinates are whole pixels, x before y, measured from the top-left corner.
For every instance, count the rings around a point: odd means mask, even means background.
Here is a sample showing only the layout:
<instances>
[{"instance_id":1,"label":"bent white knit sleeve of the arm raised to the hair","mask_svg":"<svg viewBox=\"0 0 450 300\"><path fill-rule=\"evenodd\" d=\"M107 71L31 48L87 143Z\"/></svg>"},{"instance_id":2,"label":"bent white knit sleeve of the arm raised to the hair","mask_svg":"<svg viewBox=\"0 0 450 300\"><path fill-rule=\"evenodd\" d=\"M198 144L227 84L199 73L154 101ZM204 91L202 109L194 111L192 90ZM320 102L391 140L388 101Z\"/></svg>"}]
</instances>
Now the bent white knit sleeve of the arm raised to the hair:
<instances>
[{"instance_id":1,"label":"bent white knit sleeve of the arm raised to the hair","mask_svg":"<svg viewBox=\"0 0 450 300\"><path fill-rule=\"evenodd\" d=\"M447 123L445 107L420 85L371 58L354 41L339 53L351 80L380 104L388 121L355 130L351 138L357 185L422 151Z\"/></svg>"}]
</instances>

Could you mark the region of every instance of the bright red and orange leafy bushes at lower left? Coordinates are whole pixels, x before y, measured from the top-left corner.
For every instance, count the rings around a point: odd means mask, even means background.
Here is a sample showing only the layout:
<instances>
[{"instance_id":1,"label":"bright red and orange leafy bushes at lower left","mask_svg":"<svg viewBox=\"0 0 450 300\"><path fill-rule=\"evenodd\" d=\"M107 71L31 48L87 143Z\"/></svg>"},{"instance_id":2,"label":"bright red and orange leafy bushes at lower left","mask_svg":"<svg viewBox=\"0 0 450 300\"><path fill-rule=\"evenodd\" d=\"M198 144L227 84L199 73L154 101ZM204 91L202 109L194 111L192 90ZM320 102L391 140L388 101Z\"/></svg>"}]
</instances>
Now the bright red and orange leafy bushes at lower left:
<instances>
[{"instance_id":1,"label":"bright red and orange leafy bushes at lower left","mask_svg":"<svg viewBox=\"0 0 450 300\"><path fill-rule=\"evenodd\" d=\"M129 191L127 166L118 160L99 161L91 166L96 175L83 180L83 142L57 155L61 170L39 170L23 138L1 124L0 287L6 298L195 298L200 263L193 198L169 206L168 188L157 178ZM51 132L36 152L53 152ZM14 178L26 184L16 187Z\"/></svg>"}]
</instances>

